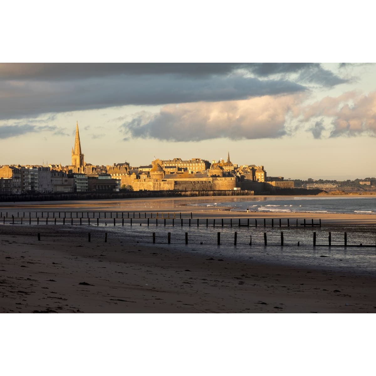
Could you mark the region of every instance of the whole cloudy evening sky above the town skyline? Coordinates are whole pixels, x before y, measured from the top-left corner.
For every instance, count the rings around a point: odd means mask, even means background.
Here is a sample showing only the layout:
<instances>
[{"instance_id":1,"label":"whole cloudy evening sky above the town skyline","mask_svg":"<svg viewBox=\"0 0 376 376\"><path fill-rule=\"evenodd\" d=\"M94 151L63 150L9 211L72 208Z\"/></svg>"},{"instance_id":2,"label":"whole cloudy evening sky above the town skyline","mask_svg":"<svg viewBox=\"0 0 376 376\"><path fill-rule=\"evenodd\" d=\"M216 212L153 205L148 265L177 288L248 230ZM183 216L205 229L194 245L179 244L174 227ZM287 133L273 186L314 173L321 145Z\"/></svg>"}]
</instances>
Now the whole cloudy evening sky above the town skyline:
<instances>
[{"instance_id":1,"label":"whole cloudy evening sky above the town skyline","mask_svg":"<svg viewBox=\"0 0 376 376\"><path fill-rule=\"evenodd\" d=\"M376 176L376 65L2 63L0 164L227 158L285 179Z\"/></svg>"}]
</instances>

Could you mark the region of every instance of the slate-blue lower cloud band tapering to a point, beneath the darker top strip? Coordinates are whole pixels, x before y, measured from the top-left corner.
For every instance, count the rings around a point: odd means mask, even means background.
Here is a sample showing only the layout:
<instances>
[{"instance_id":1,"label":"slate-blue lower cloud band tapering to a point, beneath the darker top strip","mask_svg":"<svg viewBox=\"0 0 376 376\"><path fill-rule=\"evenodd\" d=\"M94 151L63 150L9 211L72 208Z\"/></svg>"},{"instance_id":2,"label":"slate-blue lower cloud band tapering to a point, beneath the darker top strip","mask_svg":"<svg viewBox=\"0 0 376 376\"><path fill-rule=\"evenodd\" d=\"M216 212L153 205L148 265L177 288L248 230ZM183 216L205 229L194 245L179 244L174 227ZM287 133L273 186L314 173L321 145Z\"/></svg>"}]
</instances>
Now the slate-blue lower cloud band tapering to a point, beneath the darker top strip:
<instances>
[{"instance_id":1,"label":"slate-blue lower cloud band tapering to a point, beneath the darker top strip","mask_svg":"<svg viewBox=\"0 0 376 376\"><path fill-rule=\"evenodd\" d=\"M264 95L304 91L287 80L259 80L237 74L230 76L138 75L72 80L59 83L7 82L11 95L0 82L0 118L36 116L47 112L100 109L123 105L217 102Z\"/></svg>"}]
</instances>

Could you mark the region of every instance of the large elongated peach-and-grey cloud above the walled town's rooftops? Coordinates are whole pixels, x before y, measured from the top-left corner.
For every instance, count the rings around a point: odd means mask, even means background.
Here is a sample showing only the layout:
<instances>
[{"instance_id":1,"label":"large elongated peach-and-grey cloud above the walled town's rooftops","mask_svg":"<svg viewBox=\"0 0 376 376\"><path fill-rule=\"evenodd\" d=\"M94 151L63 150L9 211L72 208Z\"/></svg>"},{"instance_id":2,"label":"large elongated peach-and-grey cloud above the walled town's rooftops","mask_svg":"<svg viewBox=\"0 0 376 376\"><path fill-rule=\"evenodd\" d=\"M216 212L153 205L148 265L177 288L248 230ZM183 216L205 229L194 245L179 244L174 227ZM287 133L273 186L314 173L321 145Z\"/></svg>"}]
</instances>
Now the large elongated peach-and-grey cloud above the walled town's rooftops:
<instances>
[{"instance_id":1,"label":"large elongated peach-and-grey cloud above the walled town's rooftops","mask_svg":"<svg viewBox=\"0 0 376 376\"><path fill-rule=\"evenodd\" d=\"M141 112L125 122L125 139L168 141L278 138L287 134L288 114L297 115L301 95L263 96L240 101L183 103L164 106L158 114Z\"/></svg>"}]
</instances>

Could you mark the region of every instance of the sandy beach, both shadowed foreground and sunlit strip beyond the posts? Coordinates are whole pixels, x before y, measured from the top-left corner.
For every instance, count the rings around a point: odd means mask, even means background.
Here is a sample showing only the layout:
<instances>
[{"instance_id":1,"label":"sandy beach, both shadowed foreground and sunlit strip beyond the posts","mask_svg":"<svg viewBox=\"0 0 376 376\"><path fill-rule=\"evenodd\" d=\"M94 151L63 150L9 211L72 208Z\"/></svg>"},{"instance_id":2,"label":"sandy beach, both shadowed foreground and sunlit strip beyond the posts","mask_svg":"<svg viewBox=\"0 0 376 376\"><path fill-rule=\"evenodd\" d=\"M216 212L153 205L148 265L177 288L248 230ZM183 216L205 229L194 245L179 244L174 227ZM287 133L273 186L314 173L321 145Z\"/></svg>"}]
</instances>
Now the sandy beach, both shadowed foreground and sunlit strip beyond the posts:
<instances>
[{"instance_id":1,"label":"sandy beach, both shadowed foreground and sunlit strip beyond the posts","mask_svg":"<svg viewBox=\"0 0 376 376\"><path fill-rule=\"evenodd\" d=\"M195 198L194 201L206 198ZM212 199L212 198L211 198ZM220 198L216 198L221 201ZM2 211L182 212L194 218L230 218L218 209L186 206L193 199L124 200L118 203L2 203ZM81 206L82 205L82 206ZM85 206L85 207L84 207ZM236 213L284 218L285 213ZM299 214L301 216L302 214ZM288 217L299 218L289 213ZM324 223L372 226L374 215L309 215ZM308 218L306 216L306 218ZM41 233L38 241L37 233ZM182 252L136 242L103 230L51 225L0 226L0 312L136 313L374 313L376 273L359 276Z\"/></svg>"}]
</instances>

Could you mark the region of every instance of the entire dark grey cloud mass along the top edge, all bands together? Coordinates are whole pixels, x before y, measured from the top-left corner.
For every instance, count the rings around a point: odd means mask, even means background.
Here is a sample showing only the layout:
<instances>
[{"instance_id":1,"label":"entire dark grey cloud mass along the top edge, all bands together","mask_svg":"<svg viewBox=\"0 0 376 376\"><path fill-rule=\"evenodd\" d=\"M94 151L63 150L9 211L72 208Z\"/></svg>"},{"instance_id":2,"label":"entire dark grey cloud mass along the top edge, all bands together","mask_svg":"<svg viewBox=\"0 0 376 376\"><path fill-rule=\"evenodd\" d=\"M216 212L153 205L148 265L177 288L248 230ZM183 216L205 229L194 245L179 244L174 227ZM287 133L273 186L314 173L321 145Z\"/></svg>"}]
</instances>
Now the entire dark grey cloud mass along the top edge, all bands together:
<instances>
[{"instance_id":1,"label":"entire dark grey cloud mass along the top edge, all bands together","mask_svg":"<svg viewBox=\"0 0 376 376\"><path fill-rule=\"evenodd\" d=\"M291 94L346 80L316 63L0 64L0 119Z\"/></svg>"}]
</instances>

